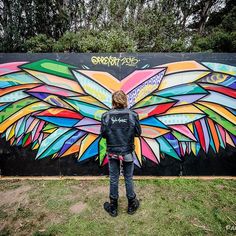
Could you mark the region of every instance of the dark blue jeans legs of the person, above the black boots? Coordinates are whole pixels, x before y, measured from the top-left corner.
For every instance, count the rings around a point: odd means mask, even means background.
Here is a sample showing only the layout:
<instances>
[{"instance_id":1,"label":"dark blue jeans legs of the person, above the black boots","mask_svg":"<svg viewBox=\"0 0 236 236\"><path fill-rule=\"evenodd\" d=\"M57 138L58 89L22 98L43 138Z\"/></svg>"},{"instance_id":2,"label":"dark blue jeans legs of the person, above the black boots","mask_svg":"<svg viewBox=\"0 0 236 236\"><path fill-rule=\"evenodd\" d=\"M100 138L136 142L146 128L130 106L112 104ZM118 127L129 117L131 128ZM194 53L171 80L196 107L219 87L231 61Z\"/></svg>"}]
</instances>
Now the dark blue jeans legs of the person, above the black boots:
<instances>
[{"instance_id":1,"label":"dark blue jeans legs of the person, above the black boots","mask_svg":"<svg viewBox=\"0 0 236 236\"><path fill-rule=\"evenodd\" d=\"M134 162L123 161L123 170L125 178L126 197L128 199L133 199L136 196L133 184ZM110 197L118 199L119 176L120 176L119 160L116 159L109 160L109 176L110 176Z\"/></svg>"}]
</instances>

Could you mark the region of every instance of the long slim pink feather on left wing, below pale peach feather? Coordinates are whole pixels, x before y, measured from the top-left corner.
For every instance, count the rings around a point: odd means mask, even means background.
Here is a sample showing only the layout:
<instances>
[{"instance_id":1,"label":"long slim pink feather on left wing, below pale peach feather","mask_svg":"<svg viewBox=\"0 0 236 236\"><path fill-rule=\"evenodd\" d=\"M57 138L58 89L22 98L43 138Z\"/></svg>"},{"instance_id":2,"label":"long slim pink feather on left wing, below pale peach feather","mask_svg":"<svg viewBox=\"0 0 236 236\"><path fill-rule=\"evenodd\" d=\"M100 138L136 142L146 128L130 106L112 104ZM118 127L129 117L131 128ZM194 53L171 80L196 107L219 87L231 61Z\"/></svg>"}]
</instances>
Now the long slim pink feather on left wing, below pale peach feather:
<instances>
[{"instance_id":1,"label":"long slim pink feather on left wing, below pale peach feather","mask_svg":"<svg viewBox=\"0 0 236 236\"><path fill-rule=\"evenodd\" d=\"M42 85L42 86L39 86L39 87L28 90L28 92L48 93L48 94L60 95L60 96L64 96L64 97L80 95L79 93L74 93L74 92L71 92L69 90L58 88L58 87L55 87L55 86L50 86L50 85Z\"/></svg>"}]
</instances>

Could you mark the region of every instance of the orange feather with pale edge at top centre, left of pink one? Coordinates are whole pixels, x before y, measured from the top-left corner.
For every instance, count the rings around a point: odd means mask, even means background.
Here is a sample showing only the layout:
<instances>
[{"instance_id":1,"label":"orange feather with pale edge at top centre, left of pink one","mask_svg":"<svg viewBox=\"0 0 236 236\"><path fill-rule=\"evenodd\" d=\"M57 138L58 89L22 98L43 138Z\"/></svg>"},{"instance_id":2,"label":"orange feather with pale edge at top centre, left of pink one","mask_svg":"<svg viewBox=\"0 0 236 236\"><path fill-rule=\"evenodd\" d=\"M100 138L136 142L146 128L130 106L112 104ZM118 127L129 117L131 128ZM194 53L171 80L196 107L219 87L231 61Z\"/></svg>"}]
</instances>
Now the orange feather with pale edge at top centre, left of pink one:
<instances>
[{"instance_id":1,"label":"orange feather with pale edge at top centre, left of pink one","mask_svg":"<svg viewBox=\"0 0 236 236\"><path fill-rule=\"evenodd\" d=\"M113 75L103 72L103 71L88 71L88 70L78 70L80 73L88 76L90 79L99 83L110 92L119 90L122 83L117 80Z\"/></svg>"}]
</instances>

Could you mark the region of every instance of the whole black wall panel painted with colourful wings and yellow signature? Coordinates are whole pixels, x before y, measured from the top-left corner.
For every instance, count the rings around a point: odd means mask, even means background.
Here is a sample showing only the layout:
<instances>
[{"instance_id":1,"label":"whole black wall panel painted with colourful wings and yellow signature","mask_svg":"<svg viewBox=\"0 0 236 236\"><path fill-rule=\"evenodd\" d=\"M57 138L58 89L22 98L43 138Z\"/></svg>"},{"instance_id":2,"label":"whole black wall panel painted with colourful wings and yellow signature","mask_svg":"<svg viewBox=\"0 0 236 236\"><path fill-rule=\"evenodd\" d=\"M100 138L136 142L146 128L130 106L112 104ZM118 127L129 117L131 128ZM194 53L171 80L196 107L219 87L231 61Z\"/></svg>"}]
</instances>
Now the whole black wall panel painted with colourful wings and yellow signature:
<instances>
[{"instance_id":1,"label":"whole black wall panel painted with colourful wings and yellow signature","mask_svg":"<svg viewBox=\"0 0 236 236\"><path fill-rule=\"evenodd\" d=\"M141 123L136 174L236 173L235 54L1 54L0 62L3 175L107 174L101 115L119 89Z\"/></svg>"}]
</instances>

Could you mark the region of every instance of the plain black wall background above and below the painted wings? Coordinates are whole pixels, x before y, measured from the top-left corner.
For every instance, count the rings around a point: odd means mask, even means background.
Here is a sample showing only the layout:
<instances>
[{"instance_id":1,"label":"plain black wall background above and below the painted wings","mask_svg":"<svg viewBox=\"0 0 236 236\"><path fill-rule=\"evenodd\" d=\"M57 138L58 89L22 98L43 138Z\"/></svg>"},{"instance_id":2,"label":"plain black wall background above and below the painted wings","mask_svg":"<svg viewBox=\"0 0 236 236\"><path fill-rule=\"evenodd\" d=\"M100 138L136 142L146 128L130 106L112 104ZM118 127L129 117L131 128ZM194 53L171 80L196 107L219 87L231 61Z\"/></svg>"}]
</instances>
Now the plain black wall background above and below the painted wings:
<instances>
[{"instance_id":1,"label":"plain black wall background above and below the painted wings","mask_svg":"<svg viewBox=\"0 0 236 236\"><path fill-rule=\"evenodd\" d=\"M92 56L136 57L140 62L136 67L93 65ZM0 53L0 64L15 61L36 61L40 59L53 59L77 66L83 65L91 70L104 70L122 80L137 68L145 65L157 66L165 63L195 60L198 62L218 62L236 66L236 54L229 53L143 53L143 54L64 54L39 53L15 54ZM0 139L0 171L5 176L50 176L50 175L107 175L108 166L100 167L98 161L90 158L84 162L77 162L74 155L61 159L44 158L35 160L36 151L30 148L10 146L8 142ZM200 152L198 157L187 155L178 161L166 155L159 165L143 159L142 168L135 166L135 175L236 175L236 150L230 146L221 149L219 154L211 150L206 155Z\"/></svg>"}]
</instances>

